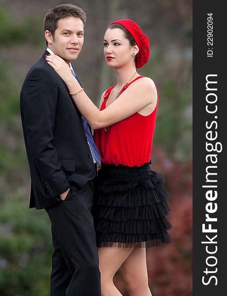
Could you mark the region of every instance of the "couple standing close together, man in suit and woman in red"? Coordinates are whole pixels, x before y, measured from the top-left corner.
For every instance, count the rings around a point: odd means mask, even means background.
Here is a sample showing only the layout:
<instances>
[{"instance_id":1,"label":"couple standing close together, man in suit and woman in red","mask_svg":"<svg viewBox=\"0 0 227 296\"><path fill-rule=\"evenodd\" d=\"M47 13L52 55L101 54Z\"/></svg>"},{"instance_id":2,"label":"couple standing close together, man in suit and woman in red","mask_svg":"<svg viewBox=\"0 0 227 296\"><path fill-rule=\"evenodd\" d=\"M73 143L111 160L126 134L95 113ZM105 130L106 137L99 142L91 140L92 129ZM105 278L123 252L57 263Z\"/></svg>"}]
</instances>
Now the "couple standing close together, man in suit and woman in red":
<instances>
[{"instance_id":1,"label":"couple standing close together, man in suit and woman in red","mask_svg":"<svg viewBox=\"0 0 227 296\"><path fill-rule=\"evenodd\" d=\"M52 225L51 296L120 296L113 284L119 268L130 296L151 296L146 247L169 243L171 225L169 194L150 170L158 94L136 71L149 59L149 40L133 21L109 25L104 57L117 81L99 111L70 64L82 49L85 21L72 4L47 13L47 50L20 98L30 208L44 208Z\"/></svg>"}]
</instances>

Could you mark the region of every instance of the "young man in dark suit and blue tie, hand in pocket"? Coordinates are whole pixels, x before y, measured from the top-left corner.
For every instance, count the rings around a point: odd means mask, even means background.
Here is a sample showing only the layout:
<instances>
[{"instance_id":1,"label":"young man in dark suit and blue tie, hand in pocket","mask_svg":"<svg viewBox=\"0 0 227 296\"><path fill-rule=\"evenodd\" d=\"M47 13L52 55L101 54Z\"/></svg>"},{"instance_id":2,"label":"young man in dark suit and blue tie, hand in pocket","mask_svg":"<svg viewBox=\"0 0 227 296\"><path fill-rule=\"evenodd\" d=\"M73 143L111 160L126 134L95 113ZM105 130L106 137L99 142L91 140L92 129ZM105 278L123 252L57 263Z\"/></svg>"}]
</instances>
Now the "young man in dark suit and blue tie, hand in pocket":
<instances>
[{"instance_id":1,"label":"young man in dark suit and blue tie, hand in pocket","mask_svg":"<svg viewBox=\"0 0 227 296\"><path fill-rule=\"evenodd\" d=\"M27 74L20 97L32 179L30 208L45 208L52 223L51 296L100 296L91 215L94 163L100 155L65 83L45 61L54 53L71 68L83 46L85 21L84 11L72 4L47 13L48 47Z\"/></svg>"}]
</instances>

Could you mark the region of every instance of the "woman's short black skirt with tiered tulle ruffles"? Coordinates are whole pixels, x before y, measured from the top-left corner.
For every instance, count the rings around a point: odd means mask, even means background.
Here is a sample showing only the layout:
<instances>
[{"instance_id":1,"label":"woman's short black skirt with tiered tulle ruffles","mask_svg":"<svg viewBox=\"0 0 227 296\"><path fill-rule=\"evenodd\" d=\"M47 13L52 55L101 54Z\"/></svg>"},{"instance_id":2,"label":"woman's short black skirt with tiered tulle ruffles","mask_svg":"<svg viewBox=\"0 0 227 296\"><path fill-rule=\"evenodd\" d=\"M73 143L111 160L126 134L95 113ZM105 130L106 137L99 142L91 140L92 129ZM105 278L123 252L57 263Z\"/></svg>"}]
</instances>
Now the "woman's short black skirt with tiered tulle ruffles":
<instances>
[{"instance_id":1,"label":"woman's short black skirt with tiered tulle ruffles","mask_svg":"<svg viewBox=\"0 0 227 296\"><path fill-rule=\"evenodd\" d=\"M172 241L161 174L141 167L102 164L97 176L94 222L97 247L143 248Z\"/></svg>"}]
</instances>

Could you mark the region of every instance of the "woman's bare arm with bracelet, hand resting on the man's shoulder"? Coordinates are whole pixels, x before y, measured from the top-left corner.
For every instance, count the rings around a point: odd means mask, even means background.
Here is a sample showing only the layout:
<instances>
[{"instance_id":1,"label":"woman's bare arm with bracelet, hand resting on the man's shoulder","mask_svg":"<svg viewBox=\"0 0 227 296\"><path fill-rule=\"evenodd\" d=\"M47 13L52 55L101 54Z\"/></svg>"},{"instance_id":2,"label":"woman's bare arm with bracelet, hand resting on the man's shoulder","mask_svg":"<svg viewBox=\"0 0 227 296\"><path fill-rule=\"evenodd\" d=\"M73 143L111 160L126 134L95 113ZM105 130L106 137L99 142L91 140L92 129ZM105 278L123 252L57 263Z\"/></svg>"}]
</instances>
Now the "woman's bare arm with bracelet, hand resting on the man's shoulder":
<instances>
[{"instance_id":1,"label":"woman's bare arm with bracelet, hand resting on the man's shoulder","mask_svg":"<svg viewBox=\"0 0 227 296\"><path fill-rule=\"evenodd\" d=\"M60 57L51 55L47 57L48 63L65 81L71 93L81 90L78 81L73 77L68 65ZM101 100L103 101L103 95ZM112 125L150 105L151 112L157 103L157 90L152 79L144 77L136 80L115 100L108 108L99 111L84 91L72 95L79 111L86 118L93 129Z\"/></svg>"}]
</instances>

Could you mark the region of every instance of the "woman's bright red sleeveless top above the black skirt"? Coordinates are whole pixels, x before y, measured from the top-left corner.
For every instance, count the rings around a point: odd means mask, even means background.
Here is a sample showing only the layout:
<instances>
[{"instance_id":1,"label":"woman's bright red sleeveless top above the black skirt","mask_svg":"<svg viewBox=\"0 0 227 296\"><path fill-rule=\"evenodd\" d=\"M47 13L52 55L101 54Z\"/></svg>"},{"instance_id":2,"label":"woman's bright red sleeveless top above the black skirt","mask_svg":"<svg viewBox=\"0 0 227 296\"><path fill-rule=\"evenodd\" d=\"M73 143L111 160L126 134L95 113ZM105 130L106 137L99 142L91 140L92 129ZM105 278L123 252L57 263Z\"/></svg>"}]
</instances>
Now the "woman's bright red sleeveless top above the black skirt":
<instances>
[{"instance_id":1,"label":"woman's bright red sleeveless top above the black skirt","mask_svg":"<svg viewBox=\"0 0 227 296\"><path fill-rule=\"evenodd\" d=\"M122 92L131 83L142 77L144 76L136 77L123 88ZM106 90L100 110L105 109L112 88L113 86ZM117 100L121 100L121 97ZM130 117L110 125L107 132L104 128L94 131L94 139L100 151L102 163L123 164L132 167L134 165L141 166L150 161L158 103L159 98L155 110L147 116L136 112Z\"/></svg>"}]
</instances>

